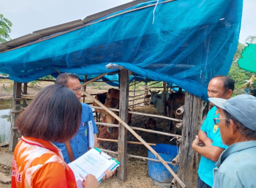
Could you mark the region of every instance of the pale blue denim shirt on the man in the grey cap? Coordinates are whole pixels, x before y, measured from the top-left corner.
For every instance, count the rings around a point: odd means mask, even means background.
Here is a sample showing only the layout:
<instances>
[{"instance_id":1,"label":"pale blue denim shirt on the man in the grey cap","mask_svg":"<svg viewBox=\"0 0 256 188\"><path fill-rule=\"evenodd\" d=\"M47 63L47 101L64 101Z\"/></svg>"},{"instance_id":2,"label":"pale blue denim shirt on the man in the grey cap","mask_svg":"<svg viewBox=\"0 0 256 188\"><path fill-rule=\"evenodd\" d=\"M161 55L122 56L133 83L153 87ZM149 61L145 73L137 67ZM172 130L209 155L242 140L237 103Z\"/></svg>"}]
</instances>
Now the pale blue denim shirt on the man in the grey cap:
<instances>
[{"instance_id":1,"label":"pale blue denim shirt on the man in the grey cap","mask_svg":"<svg viewBox=\"0 0 256 188\"><path fill-rule=\"evenodd\" d=\"M216 162L214 188L256 187L256 140L230 145Z\"/></svg>"}]
</instances>

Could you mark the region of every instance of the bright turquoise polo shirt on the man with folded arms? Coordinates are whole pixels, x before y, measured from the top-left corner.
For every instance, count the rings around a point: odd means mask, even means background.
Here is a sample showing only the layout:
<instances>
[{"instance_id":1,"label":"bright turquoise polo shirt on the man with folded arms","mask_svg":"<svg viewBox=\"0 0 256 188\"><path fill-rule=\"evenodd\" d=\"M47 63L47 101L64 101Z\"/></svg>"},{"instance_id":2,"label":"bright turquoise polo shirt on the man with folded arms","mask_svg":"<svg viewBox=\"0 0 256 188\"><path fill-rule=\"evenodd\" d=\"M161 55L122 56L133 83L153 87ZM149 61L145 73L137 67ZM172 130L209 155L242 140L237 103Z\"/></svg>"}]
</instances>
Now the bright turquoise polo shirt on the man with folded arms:
<instances>
[{"instance_id":1,"label":"bright turquoise polo shirt on the man with folded arms","mask_svg":"<svg viewBox=\"0 0 256 188\"><path fill-rule=\"evenodd\" d=\"M207 134L207 137L212 140L212 146L218 146L220 148L228 148L228 146L225 146L222 143L222 138L220 137L220 130L218 126L214 124L214 118L219 117L219 113L215 115L217 108L214 106L210 111L207 113L207 118L203 122L203 125L201 126L201 130ZM213 170L216 167L214 161L210 160L209 158L205 158L204 156L201 156L201 160L199 163L198 168L198 175L200 179L212 187L214 184L214 174Z\"/></svg>"}]
</instances>

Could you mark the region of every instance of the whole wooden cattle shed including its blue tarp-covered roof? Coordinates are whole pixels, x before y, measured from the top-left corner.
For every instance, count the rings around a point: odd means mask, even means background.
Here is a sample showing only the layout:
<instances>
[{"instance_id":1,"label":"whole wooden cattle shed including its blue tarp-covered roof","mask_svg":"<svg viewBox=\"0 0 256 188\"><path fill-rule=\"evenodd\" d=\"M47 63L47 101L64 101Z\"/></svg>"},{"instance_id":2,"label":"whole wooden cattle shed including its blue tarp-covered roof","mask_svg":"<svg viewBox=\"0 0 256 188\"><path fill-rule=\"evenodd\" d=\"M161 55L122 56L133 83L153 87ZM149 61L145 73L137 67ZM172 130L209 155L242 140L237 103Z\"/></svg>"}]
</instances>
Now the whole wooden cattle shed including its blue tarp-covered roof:
<instances>
[{"instance_id":1,"label":"whole wooden cattle shed including its blue tarp-covered roof","mask_svg":"<svg viewBox=\"0 0 256 188\"><path fill-rule=\"evenodd\" d=\"M118 122L117 152L121 165L117 177L121 181L127 175L129 131L164 164L177 186L191 187L195 181L193 164L197 161L191 144L203 120L207 85L212 77L228 74L237 49L242 9L243 0L137 0L1 44L1 73L14 81L9 150L14 150L20 137L15 121L32 97L27 92L27 83L47 75L56 78L59 73L75 73L84 83L84 95ZM119 88L119 112L106 108L86 92L86 85L92 81L108 82ZM182 134L172 135L180 139L177 174L152 149L150 144L154 143L148 144L127 124L129 114L135 112L129 113L128 108L146 105L142 98L153 87L150 81L164 82L162 95L152 91L164 103L172 96L167 88L173 90L177 85L185 90L183 118L178 121ZM139 82L145 82L142 93L134 89ZM130 83L133 89L129 89ZM133 96L129 97L129 93ZM164 113L157 118L176 124L179 118L164 118L166 106L157 107ZM133 115L156 118L139 113ZM160 135L154 130L138 131Z\"/></svg>"}]
</instances>

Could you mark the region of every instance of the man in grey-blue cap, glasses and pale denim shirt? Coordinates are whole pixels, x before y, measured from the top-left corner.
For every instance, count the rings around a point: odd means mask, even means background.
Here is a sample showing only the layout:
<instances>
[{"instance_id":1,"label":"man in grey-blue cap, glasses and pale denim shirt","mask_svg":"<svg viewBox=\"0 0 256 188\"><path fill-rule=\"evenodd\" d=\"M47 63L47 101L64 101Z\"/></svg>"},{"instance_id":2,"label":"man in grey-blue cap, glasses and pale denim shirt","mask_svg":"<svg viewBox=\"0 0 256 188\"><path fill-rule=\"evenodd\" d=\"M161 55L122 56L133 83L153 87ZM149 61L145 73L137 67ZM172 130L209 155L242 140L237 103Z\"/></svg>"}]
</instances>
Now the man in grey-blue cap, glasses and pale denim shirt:
<instances>
[{"instance_id":1,"label":"man in grey-blue cap, glasses and pale denim shirt","mask_svg":"<svg viewBox=\"0 0 256 188\"><path fill-rule=\"evenodd\" d=\"M214 169L213 187L256 187L256 99L237 95L232 99L209 99L220 111L216 124L223 143Z\"/></svg>"}]
</instances>

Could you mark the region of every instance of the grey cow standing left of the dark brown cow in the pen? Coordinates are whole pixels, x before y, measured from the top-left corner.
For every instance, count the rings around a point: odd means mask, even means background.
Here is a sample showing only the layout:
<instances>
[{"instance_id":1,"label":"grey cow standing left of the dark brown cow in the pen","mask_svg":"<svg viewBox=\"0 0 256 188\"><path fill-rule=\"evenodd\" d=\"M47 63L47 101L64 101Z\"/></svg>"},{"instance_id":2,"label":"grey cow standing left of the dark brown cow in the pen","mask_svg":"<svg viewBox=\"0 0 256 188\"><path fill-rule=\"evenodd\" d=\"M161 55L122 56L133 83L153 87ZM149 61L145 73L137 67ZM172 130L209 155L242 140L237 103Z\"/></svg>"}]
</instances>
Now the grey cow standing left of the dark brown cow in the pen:
<instances>
[{"instance_id":1,"label":"grey cow standing left of the dark brown cow in the pen","mask_svg":"<svg viewBox=\"0 0 256 188\"><path fill-rule=\"evenodd\" d=\"M156 107L157 113L161 115L164 114L164 93L158 94L160 91L150 91L151 93L151 101L150 104ZM166 93L166 100L168 99L170 93Z\"/></svg>"}]
</instances>

